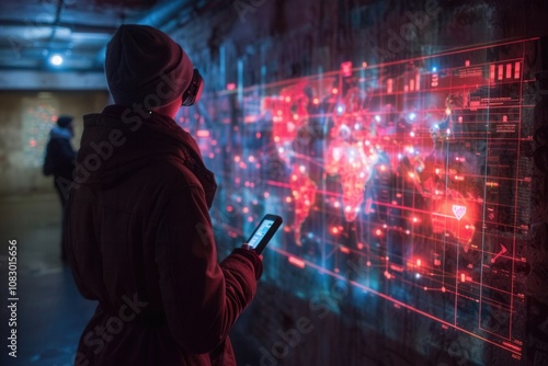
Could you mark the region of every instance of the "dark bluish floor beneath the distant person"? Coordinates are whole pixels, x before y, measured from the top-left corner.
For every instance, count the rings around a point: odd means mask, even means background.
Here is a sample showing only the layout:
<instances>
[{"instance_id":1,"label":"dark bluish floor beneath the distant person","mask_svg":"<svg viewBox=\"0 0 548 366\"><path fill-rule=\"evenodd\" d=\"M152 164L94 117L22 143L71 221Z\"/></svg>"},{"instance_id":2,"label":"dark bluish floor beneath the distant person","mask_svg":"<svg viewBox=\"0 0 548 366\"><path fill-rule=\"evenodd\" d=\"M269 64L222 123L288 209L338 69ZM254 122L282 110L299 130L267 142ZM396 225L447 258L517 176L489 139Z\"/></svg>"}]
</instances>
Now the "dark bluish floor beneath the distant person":
<instances>
[{"instance_id":1,"label":"dark bluish floor beneath the distant person","mask_svg":"<svg viewBox=\"0 0 548 366\"><path fill-rule=\"evenodd\" d=\"M60 261L60 208L55 193L0 197L0 366L69 366L95 302L83 299ZM9 325L8 247L18 244L16 327ZM11 302L11 301L10 301ZM16 358L8 335L16 329ZM232 343L241 365L250 357L243 338ZM238 344L240 346L238 346ZM251 353L251 355L254 355Z\"/></svg>"}]
</instances>

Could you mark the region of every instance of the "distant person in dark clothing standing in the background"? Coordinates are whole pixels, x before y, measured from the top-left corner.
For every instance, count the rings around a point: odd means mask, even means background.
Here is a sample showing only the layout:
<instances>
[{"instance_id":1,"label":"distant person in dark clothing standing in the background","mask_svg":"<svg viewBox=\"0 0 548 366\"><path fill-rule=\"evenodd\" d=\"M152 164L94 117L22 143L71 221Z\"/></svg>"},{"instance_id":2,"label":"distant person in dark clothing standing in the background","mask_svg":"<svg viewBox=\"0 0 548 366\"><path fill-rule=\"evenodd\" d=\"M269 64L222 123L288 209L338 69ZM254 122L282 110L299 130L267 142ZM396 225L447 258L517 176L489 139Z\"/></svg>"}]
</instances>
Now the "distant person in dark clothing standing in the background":
<instances>
[{"instance_id":1,"label":"distant person in dark clothing standing in the background","mask_svg":"<svg viewBox=\"0 0 548 366\"><path fill-rule=\"evenodd\" d=\"M54 176L54 187L61 204L61 260L67 260L62 236L66 222L66 206L69 187L72 183L75 170L76 151L70 140L75 136L73 118L71 116L59 116L57 125L49 131L49 141L46 146L43 172L44 175Z\"/></svg>"}]
</instances>

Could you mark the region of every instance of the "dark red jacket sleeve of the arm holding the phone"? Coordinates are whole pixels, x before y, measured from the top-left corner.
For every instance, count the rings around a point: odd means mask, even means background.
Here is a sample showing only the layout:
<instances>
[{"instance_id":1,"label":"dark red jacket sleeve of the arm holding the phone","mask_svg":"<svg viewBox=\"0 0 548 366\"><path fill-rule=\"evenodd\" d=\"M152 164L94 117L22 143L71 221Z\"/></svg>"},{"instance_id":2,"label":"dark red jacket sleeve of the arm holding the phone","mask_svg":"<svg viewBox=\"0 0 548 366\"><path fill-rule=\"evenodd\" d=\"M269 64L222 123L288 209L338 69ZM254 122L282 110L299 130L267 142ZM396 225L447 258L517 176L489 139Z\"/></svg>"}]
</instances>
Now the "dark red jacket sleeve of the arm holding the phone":
<instances>
[{"instance_id":1,"label":"dark red jacket sleeve of the arm holding the phone","mask_svg":"<svg viewBox=\"0 0 548 366\"><path fill-rule=\"evenodd\" d=\"M251 254L251 256L250 256ZM180 346L207 353L222 342L251 302L262 263L235 251L219 265L204 192L191 186L165 204L156 261L170 331Z\"/></svg>"}]
</instances>

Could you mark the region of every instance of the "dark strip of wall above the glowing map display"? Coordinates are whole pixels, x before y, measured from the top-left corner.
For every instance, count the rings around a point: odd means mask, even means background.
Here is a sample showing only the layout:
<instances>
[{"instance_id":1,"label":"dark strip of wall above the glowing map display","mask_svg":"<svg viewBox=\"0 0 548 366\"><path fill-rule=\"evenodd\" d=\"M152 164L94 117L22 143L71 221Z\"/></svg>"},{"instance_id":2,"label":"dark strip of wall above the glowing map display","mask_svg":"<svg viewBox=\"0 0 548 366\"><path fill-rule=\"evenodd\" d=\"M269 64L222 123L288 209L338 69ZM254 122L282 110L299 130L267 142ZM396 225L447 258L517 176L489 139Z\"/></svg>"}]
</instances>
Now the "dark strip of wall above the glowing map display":
<instances>
[{"instance_id":1,"label":"dark strip of wall above the glowing map display","mask_svg":"<svg viewBox=\"0 0 548 366\"><path fill-rule=\"evenodd\" d=\"M546 1L235 0L165 30L206 90L243 85L548 34ZM240 72L238 69L240 68Z\"/></svg>"}]
</instances>

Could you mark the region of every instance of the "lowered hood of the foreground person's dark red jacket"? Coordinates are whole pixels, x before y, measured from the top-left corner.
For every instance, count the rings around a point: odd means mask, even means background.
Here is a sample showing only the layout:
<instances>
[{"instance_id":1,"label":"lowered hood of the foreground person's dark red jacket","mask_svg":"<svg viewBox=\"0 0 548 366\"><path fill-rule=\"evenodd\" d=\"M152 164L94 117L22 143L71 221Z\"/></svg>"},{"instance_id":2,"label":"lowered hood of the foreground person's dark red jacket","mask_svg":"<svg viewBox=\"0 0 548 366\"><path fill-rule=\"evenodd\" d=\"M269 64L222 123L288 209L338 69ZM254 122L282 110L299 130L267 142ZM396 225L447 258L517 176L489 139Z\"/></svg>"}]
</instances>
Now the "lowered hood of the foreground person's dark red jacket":
<instances>
[{"instance_id":1,"label":"lowered hood of the foreground person's dark red jacket","mask_svg":"<svg viewBox=\"0 0 548 366\"><path fill-rule=\"evenodd\" d=\"M210 206L214 174L202 160L194 138L168 116L123 105L83 116L84 130L76 160L75 184L103 190L144 167L176 159L199 180Z\"/></svg>"}]
</instances>

